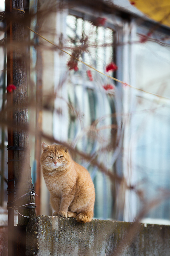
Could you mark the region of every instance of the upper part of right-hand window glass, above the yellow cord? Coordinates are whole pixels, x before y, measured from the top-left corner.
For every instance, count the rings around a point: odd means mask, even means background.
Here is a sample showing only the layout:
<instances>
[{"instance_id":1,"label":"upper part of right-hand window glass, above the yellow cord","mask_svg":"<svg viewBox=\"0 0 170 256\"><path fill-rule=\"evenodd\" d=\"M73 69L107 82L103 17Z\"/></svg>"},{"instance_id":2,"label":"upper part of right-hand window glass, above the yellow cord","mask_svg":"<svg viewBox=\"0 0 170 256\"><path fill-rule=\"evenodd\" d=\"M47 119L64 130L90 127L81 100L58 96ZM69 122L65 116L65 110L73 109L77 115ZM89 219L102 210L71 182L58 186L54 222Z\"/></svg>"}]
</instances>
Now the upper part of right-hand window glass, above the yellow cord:
<instances>
[{"instance_id":1,"label":"upper part of right-hand window glass, above the yellow cord","mask_svg":"<svg viewBox=\"0 0 170 256\"><path fill-rule=\"evenodd\" d=\"M170 47L152 41L137 44L136 63L137 87L170 97Z\"/></svg>"}]
</instances>

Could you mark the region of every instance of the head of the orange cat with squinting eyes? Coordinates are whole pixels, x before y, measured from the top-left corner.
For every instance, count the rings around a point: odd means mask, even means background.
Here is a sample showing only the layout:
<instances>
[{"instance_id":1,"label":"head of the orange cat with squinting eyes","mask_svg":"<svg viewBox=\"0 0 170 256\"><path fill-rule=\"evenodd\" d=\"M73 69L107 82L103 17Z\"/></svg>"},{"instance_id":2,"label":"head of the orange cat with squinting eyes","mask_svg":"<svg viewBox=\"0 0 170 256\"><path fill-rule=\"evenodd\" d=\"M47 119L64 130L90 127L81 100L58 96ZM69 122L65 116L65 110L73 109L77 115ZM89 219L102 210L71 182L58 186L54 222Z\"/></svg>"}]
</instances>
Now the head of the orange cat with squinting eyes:
<instances>
[{"instance_id":1,"label":"head of the orange cat with squinting eyes","mask_svg":"<svg viewBox=\"0 0 170 256\"><path fill-rule=\"evenodd\" d=\"M68 164L68 149L60 145L42 143L41 164L49 172L62 171Z\"/></svg>"}]
</instances>

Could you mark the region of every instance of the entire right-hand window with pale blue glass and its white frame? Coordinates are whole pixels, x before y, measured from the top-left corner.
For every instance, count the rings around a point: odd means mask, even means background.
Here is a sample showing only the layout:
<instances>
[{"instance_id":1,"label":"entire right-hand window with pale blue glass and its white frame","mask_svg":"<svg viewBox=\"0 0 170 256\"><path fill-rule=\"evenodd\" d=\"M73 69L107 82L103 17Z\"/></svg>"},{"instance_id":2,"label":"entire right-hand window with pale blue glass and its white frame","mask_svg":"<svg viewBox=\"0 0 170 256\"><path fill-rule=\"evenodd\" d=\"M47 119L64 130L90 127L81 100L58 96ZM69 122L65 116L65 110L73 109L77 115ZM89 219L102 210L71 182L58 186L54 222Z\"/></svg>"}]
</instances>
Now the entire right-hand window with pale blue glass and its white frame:
<instances>
[{"instance_id":1,"label":"entire right-hand window with pale blue glass and its white frame","mask_svg":"<svg viewBox=\"0 0 170 256\"><path fill-rule=\"evenodd\" d=\"M138 26L133 38L133 79L131 85L145 90L129 89L129 120L124 137L124 172L131 177L142 194L129 192L125 220L133 220L149 202L160 199L156 208L147 212L146 218L169 220L169 108L170 101L170 41L168 30L154 31L141 43L141 35L147 35L153 27ZM152 93L160 95L158 97ZM129 207L128 207L129 205ZM153 221L153 220L145 220ZM161 222L158 223L161 223Z\"/></svg>"}]
</instances>

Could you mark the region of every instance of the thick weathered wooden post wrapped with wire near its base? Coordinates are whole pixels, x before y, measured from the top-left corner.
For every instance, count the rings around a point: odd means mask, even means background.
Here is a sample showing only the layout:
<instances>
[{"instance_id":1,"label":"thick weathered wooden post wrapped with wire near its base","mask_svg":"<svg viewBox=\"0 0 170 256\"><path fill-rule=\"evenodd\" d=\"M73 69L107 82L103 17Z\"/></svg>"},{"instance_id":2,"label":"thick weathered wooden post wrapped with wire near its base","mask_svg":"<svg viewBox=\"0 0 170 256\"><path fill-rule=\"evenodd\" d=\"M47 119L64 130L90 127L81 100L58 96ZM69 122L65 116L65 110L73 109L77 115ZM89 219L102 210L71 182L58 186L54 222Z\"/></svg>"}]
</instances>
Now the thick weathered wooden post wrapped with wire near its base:
<instances>
[{"instance_id":1,"label":"thick weathered wooden post wrapped with wire near its base","mask_svg":"<svg viewBox=\"0 0 170 256\"><path fill-rule=\"evenodd\" d=\"M25 190L33 188L28 138L28 105L27 105L27 72L26 54L24 41L24 7L23 0L13 0L12 9L14 13L13 22L13 84L17 86L14 92L14 178L17 187L17 197L24 195ZM26 188L24 188L26 187ZM25 197L18 202L18 212L24 216L35 214L35 208L31 206L35 203L34 195ZM21 205L25 205L21 206ZM30 205L30 207L29 207ZM18 226L26 226L28 218L18 214Z\"/></svg>"}]
</instances>

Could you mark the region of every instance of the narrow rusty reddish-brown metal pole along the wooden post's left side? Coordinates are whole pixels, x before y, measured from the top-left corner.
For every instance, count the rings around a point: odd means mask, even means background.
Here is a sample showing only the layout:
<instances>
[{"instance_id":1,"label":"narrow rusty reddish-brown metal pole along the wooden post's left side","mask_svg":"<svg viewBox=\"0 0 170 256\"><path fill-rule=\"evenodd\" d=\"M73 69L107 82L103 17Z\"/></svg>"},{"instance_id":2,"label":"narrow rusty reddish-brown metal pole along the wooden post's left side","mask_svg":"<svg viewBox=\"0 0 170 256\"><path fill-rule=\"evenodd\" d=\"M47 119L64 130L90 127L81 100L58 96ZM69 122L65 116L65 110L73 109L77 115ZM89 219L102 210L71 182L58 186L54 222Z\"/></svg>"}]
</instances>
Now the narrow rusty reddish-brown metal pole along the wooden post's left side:
<instances>
[{"instance_id":1,"label":"narrow rusty reddish-brown metal pole along the wooden post's left side","mask_svg":"<svg viewBox=\"0 0 170 256\"><path fill-rule=\"evenodd\" d=\"M7 27L7 85L13 84L13 33L12 33L12 20L10 13L12 13L12 0L6 0L6 27ZM8 122L13 122L13 93L8 92L7 94L7 118ZM8 145L13 146L13 128L8 126ZM13 151L8 151L8 202L14 200L14 164L13 161ZM14 255L14 243L13 243L13 234L14 234L14 210L8 208L8 255Z\"/></svg>"}]
</instances>

